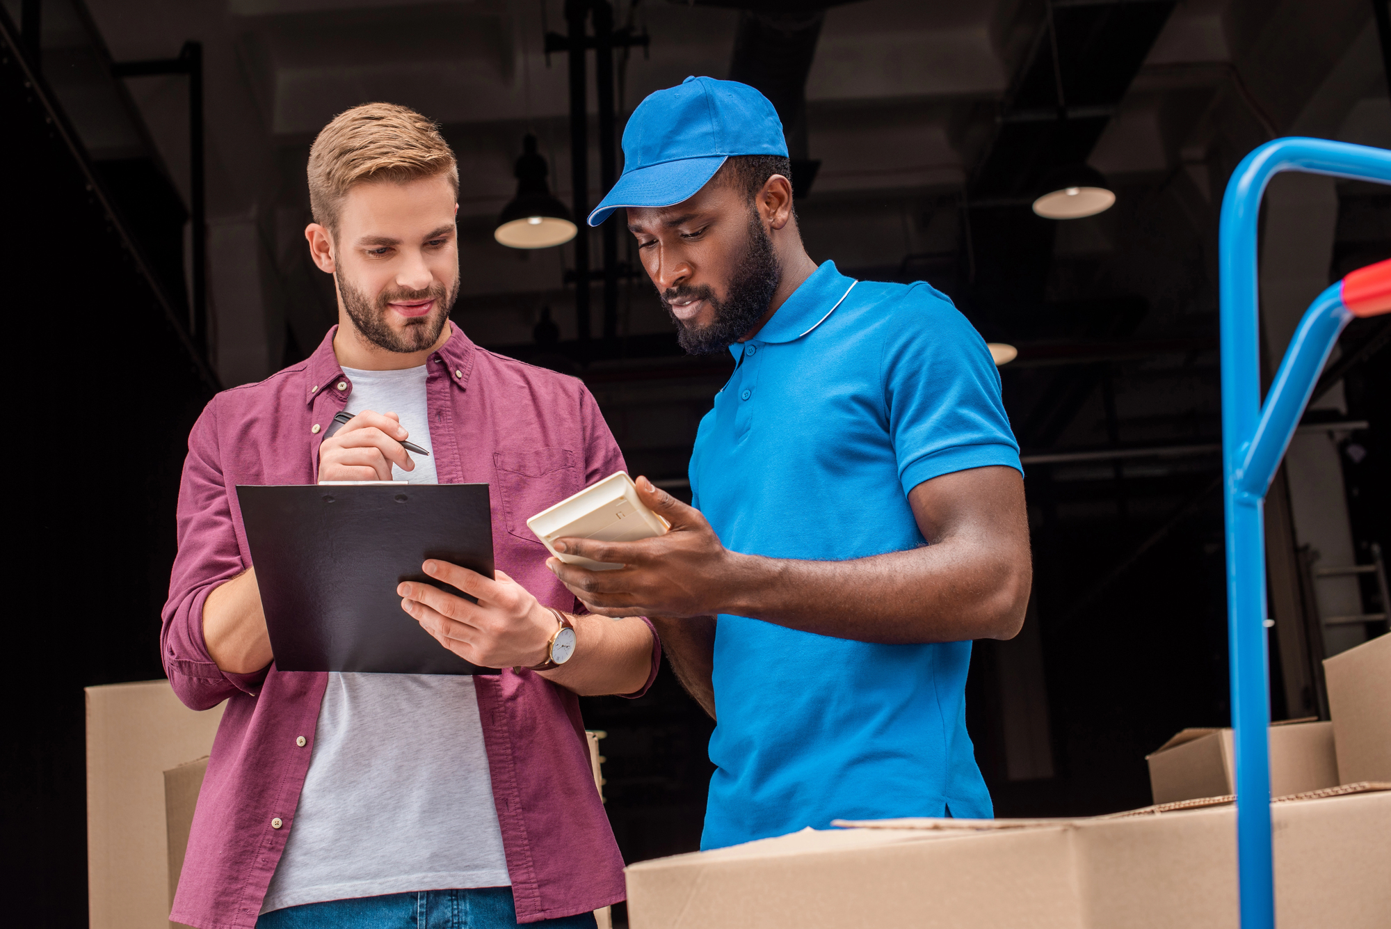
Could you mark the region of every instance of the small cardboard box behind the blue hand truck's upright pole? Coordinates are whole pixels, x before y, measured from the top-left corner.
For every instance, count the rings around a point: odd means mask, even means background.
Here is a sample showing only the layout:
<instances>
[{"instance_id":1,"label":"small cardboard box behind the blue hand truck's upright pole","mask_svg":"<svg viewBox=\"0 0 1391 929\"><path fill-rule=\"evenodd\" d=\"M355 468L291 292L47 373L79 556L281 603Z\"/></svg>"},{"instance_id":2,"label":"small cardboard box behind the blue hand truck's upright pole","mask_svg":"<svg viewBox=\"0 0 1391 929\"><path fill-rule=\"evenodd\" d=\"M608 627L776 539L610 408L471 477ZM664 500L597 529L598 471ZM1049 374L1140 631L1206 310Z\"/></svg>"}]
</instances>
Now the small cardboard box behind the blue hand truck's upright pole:
<instances>
[{"instance_id":1,"label":"small cardboard box behind the blue hand truck's upright pole","mask_svg":"<svg viewBox=\"0 0 1391 929\"><path fill-rule=\"evenodd\" d=\"M1273 797L1323 790L1340 783L1333 733L1333 723L1327 722L1276 723L1270 727ZM1230 729L1185 729L1146 755L1145 761L1149 762L1149 787L1156 804L1225 797L1237 791Z\"/></svg>"}]
</instances>

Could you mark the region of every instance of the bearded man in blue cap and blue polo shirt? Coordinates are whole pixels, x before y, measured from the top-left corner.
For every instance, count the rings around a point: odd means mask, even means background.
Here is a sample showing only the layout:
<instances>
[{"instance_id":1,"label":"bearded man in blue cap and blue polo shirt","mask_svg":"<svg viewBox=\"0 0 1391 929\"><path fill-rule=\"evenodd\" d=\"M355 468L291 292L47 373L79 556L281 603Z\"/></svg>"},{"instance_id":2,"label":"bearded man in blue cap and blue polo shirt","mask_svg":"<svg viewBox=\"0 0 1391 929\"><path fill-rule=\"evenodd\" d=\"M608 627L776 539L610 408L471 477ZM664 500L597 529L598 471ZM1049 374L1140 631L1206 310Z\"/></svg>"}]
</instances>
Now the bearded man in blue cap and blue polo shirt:
<instances>
[{"instance_id":1,"label":"bearded man in blue cap and blue polo shirt","mask_svg":"<svg viewBox=\"0 0 1391 929\"><path fill-rule=\"evenodd\" d=\"M807 256L787 147L753 88L687 78L623 134L623 210L689 352L737 363L672 531L565 540L597 613L658 623L715 720L704 848L832 819L989 816L965 732L971 640L1008 638L1031 566L1018 445L985 342L928 284ZM561 545L556 545L559 549Z\"/></svg>"}]
</instances>

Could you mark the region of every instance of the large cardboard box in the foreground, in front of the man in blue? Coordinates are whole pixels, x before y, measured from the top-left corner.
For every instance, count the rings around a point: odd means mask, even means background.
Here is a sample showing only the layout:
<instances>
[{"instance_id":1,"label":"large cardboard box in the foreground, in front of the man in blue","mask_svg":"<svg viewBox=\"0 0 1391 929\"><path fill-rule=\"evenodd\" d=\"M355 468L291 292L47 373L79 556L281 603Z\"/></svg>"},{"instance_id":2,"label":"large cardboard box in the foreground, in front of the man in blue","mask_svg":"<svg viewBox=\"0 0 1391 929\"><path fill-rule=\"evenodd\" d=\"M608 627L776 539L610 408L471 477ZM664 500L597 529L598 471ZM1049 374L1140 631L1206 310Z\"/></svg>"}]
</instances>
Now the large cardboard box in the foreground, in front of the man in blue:
<instances>
[{"instance_id":1,"label":"large cardboard box in the foreground, in front of the man in blue","mask_svg":"<svg viewBox=\"0 0 1391 929\"><path fill-rule=\"evenodd\" d=\"M1344 789L1346 790L1346 789ZM1237 929L1230 804L907 819L627 868L632 929ZM1273 807L1281 929L1384 929L1391 791Z\"/></svg>"}]
</instances>

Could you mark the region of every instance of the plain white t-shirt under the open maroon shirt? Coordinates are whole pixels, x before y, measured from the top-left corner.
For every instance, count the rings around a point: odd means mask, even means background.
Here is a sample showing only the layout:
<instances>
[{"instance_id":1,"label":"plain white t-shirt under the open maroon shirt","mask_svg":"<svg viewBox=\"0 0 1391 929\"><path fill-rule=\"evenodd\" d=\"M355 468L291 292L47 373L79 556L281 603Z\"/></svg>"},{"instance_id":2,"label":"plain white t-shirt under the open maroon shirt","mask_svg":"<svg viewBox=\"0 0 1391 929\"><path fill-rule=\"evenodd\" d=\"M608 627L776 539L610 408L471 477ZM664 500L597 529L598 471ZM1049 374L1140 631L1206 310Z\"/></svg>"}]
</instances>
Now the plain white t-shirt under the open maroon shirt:
<instances>
[{"instance_id":1,"label":"plain white t-shirt under the open maroon shirt","mask_svg":"<svg viewBox=\"0 0 1391 929\"><path fill-rule=\"evenodd\" d=\"M357 371L348 410L430 445L426 369ZM412 484L435 484L412 455ZM401 613L402 622L415 622ZM479 698L466 674L328 674L314 754L262 912L413 890L509 886Z\"/></svg>"}]
</instances>

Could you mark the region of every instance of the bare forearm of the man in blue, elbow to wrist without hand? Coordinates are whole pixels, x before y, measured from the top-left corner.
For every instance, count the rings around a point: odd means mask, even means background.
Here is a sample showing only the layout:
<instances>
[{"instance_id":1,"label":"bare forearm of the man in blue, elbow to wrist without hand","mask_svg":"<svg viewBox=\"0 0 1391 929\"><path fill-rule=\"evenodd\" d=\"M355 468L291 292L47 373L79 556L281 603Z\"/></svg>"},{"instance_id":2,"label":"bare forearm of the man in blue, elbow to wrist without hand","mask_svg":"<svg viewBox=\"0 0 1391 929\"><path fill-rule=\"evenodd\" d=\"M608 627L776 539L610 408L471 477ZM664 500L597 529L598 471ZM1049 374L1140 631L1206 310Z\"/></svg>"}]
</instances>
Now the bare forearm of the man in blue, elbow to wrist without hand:
<instances>
[{"instance_id":1,"label":"bare forearm of the man in blue, elbow to wrist without hand","mask_svg":"<svg viewBox=\"0 0 1391 929\"><path fill-rule=\"evenodd\" d=\"M814 562L734 555L721 612L867 643L1010 638L1024 619L1028 552L967 541Z\"/></svg>"}]
</instances>

